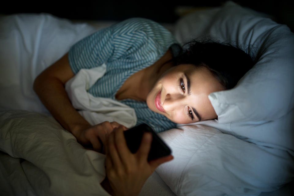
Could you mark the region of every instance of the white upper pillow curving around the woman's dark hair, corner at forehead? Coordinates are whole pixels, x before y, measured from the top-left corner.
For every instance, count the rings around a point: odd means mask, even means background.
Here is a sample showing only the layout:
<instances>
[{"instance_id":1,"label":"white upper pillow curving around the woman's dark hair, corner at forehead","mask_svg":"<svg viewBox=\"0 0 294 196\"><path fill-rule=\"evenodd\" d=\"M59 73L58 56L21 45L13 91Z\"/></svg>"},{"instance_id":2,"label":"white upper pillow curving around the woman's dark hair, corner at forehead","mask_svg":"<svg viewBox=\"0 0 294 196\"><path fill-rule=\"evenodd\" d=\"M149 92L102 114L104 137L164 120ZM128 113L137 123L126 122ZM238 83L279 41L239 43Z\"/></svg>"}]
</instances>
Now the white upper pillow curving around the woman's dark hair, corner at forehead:
<instances>
[{"instance_id":1,"label":"white upper pillow curving around the woman's dark hair, corner at forehead","mask_svg":"<svg viewBox=\"0 0 294 196\"><path fill-rule=\"evenodd\" d=\"M293 109L294 34L286 25L227 2L183 17L175 36L183 43L212 37L241 46L258 60L235 88L209 95L219 123L271 121Z\"/></svg>"}]
</instances>

